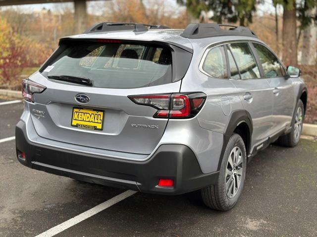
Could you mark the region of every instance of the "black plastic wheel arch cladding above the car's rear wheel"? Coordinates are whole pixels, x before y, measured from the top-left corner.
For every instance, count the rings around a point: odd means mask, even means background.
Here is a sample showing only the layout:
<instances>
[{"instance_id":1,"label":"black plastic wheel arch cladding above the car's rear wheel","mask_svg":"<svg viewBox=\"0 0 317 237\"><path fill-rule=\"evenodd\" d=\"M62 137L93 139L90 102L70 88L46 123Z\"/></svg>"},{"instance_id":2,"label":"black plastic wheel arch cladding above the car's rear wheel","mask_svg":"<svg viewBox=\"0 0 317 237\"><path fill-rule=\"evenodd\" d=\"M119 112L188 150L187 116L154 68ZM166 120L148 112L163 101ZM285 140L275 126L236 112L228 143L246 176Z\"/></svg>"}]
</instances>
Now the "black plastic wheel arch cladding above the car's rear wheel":
<instances>
[{"instance_id":1,"label":"black plastic wheel arch cladding above the car's rear wheel","mask_svg":"<svg viewBox=\"0 0 317 237\"><path fill-rule=\"evenodd\" d=\"M246 110L236 110L232 112L231 117L229 121L227 122L225 131L223 134L223 144L222 144L222 149L221 149L219 163L218 163L218 170L221 167L223 154L232 134L238 133L242 137L246 146L246 153L248 156L248 154L250 153L250 148L251 148L252 132L253 132L253 123L252 123L252 118L250 113Z\"/></svg>"}]
</instances>

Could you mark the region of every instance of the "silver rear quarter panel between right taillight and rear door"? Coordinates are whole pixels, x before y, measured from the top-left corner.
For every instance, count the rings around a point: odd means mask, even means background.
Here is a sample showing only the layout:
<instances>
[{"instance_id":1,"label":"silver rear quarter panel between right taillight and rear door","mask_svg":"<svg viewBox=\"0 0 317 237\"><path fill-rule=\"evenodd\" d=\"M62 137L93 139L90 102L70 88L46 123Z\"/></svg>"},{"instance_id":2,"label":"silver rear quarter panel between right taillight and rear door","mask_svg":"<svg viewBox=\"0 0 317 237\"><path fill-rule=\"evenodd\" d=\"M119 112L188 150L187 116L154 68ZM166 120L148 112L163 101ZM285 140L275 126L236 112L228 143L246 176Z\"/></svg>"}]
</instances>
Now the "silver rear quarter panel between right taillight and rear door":
<instances>
[{"instance_id":1,"label":"silver rear quarter panel between right taillight and rear door","mask_svg":"<svg viewBox=\"0 0 317 237\"><path fill-rule=\"evenodd\" d=\"M234 39L236 39L235 37ZM204 52L211 44L221 43L230 38L210 38L192 41L194 54L192 64L182 81L181 92L202 91L207 95L207 101L197 119L202 128L224 133L232 112L243 109L235 85L229 79L216 79L207 76L199 70L199 64Z\"/></svg>"}]
</instances>

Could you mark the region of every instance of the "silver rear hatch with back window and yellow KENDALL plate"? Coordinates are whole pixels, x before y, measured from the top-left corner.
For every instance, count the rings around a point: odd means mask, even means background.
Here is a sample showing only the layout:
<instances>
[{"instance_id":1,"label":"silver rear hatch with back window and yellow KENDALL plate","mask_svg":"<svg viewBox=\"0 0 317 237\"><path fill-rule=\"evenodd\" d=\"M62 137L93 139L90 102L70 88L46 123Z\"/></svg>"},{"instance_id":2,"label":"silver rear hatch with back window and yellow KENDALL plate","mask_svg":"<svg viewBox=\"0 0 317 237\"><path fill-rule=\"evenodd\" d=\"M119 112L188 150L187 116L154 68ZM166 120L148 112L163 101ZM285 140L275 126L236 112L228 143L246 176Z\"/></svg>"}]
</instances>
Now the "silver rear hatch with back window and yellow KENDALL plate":
<instances>
[{"instance_id":1,"label":"silver rear hatch with back window and yellow KENDALL plate","mask_svg":"<svg viewBox=\"0 0 317 237\"><path fill-rule=\"evenodd\" d=\"M180 71L176 62L184 55ZM128 96L179 92L190 60L191 53L164 43L63 40L30 78L47 87L29 104L34 127L63 143L150 154L168 119L153 118L156 108Z\"/></svg>"}]
</instances>

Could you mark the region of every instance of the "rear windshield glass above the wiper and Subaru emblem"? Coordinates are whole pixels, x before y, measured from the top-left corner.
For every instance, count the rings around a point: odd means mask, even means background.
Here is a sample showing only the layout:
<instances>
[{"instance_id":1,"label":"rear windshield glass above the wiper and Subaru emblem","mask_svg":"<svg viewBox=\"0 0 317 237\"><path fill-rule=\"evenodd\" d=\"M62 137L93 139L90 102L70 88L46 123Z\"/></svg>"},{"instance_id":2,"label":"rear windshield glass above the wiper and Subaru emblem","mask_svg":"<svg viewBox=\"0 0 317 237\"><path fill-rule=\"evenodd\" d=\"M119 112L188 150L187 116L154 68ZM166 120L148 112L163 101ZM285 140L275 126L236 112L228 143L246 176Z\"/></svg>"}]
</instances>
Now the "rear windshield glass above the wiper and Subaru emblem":
<instances>
[{"instance_id":1,"label":"rear windshield glass above the wiper and Subaru emblem","mask_svg":"<svg viewBox=\"0 0 317 237\"><path fill-rule=\"evenodd\" d=\"M42 72L45 77L87 78L94 87L137 88L172 82L171 50L153 44L73 42L48 68Z\"/></svg>"}]
</instances>

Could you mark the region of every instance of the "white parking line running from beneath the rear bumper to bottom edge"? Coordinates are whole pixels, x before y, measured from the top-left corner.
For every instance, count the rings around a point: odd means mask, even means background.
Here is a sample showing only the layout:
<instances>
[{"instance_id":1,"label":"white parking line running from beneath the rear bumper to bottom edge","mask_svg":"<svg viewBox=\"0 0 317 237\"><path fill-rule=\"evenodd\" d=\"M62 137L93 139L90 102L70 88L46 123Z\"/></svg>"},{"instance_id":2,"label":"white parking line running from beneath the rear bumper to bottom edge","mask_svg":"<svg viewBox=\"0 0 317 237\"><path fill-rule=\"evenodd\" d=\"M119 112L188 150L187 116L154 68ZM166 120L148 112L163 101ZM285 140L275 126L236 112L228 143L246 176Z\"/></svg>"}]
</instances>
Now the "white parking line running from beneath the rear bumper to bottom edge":
<instances>
[{"instance_id":1,"label":"white parking line running from beneath the rear bumper to bottom edge","mask_svg":"<svg viewBox=\"0 0 317 237\"><path fill-rule=\"evenodd\" d=\"M78 224L79 222L86 220L87 218L96 215L97 213L105 210L106 208L114 205L115 203L122 201L123 199L130 197L132 195L134 195L135 193L137 193L136 191L132 191L132 190L128 190L123 192L122 194L119 194L115 197L112 197L111 199L99 204L98 206L95 206L91 209L89 209L88 211L85 211L81 214L79 214L78 216L75 216L71 219L69 219L68 221L65 221L53 228L51 228L50 230L43 232L42 234L36 236L36 237L52 237L54 235L57 235L58 233Z\"/></svg>"}]
</instances>

